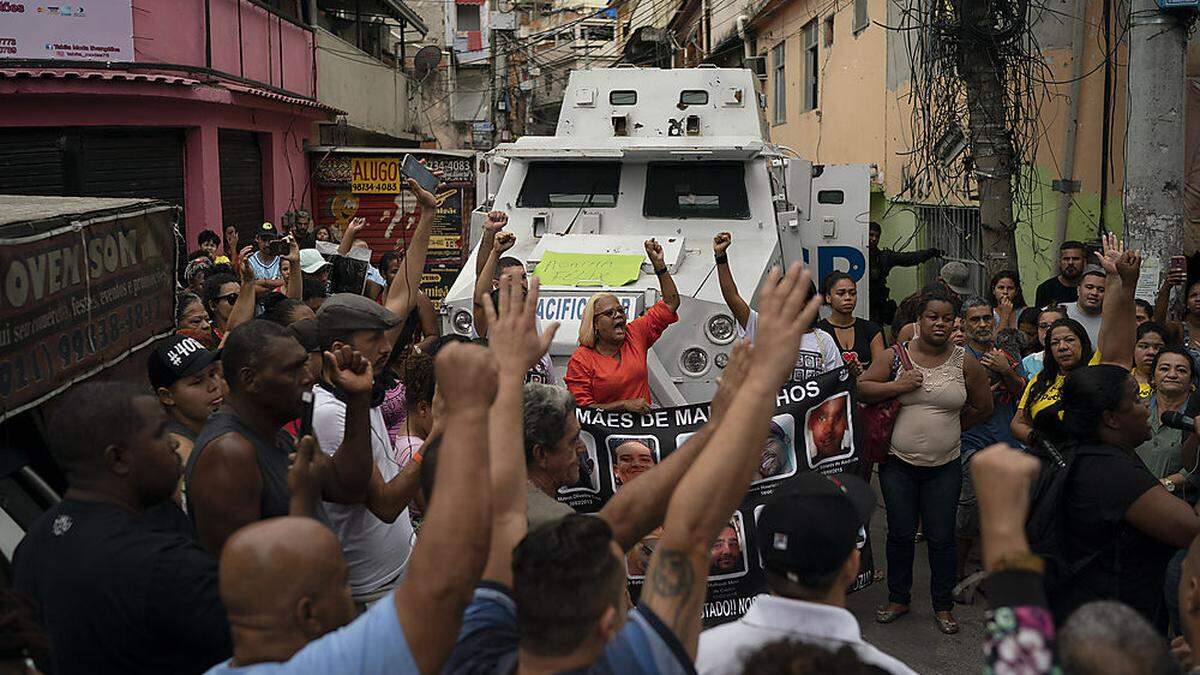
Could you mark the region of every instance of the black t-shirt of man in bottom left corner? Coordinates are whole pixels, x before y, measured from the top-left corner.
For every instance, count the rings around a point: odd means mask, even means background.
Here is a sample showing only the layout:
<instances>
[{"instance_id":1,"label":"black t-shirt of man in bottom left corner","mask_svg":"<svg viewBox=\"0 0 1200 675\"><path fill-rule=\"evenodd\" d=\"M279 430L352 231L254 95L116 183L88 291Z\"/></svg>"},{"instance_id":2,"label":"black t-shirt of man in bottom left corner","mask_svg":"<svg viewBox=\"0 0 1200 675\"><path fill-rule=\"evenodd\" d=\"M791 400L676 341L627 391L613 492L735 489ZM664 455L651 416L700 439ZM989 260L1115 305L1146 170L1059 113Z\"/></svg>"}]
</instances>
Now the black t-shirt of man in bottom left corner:
<instances>
[{"instance_id":1,"label":"black t-shirt of man in bottom left corner","mask_svg":"<svg viewBox=\"0 0 1200 675\"><path fill-rule=\"evenodd\" d=\"M118 506L64 500L13 556L58 675L204 673L233 653L217 561Z\"/></svg>"}]
</instances>

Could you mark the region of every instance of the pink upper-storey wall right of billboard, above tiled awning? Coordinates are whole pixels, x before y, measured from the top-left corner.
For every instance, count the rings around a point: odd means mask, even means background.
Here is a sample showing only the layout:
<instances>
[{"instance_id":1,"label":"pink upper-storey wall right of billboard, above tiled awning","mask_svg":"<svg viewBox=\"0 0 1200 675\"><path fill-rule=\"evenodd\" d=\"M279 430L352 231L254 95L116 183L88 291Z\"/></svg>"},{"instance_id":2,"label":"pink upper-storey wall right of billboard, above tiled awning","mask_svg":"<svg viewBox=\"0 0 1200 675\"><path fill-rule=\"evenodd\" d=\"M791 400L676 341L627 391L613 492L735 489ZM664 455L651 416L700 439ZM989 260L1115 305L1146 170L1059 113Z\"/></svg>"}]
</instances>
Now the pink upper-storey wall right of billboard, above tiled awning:
<instances>
[{"instance_id":1,"label":"pink upper-storey wall right of billboard, above tiled awning","mask_svg":"<svg viewBox=\"0 0 1200 675\"><path fill-rule=\"evenodd\" d=\"M209 5L214 70L316 96L312 31L247 0ZM133 52L143 64L204 67L204 0L133 0Z\"/></svg>"}]
</instances>

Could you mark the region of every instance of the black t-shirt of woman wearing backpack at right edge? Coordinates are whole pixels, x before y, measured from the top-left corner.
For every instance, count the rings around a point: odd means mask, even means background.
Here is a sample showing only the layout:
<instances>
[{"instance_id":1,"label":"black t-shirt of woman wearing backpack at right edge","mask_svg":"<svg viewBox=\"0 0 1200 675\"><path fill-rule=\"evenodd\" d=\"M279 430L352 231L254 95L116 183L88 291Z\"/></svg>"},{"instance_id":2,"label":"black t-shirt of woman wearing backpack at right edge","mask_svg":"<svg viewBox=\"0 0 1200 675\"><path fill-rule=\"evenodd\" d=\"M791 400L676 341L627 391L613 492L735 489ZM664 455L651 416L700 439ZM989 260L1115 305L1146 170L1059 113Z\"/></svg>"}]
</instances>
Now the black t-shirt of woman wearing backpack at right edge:
<instances>
[{"instance_id":1,"label":"black t-shirt of woman wearing backpack at right edge","mask_svg":"<svg viewBox=\"0 0 1200 675\"><path fill-rule=\"evenodd\" d=\"M1096 557L1055 595L1055 616L1115 599L1157 623L1163 578L1175 549L1124 520L1129 507L1159 482L1132 453L1114 446L1078 448L1066 488L1067 551L1072 565Z\"/></svg>"}]
</instances>

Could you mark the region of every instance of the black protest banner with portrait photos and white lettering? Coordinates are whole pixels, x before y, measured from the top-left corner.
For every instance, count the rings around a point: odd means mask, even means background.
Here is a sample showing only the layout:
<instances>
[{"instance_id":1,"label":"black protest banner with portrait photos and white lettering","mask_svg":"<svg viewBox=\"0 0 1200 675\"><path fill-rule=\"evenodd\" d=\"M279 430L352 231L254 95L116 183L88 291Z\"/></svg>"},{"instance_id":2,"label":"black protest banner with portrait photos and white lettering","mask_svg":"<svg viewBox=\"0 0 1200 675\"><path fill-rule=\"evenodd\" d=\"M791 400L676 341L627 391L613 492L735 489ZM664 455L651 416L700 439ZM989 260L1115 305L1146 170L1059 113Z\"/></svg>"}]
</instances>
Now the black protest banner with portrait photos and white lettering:
<instances>
[{"instance_id":1,"label":"black protest banner with portrait photos and white lettering","mask_svg":"<svg viewBox=\"0 0 1200 675\"><path fill-rule=\"evenodd\" d=\"M836 474L858 464L856 399L853 378L845 368L804 382L788 382L780 390L750 489L713 544L704 626L738 619L766 589L755 522L767 498L797 473ZM580 482L560 488L558 500L580 513L600 510L622 485L653 468L700 430L708 422L709 407L695 404L648 414L580 408L576 414L587 452L581 459ZM635 601L659 537L659 531L652 532L626 555L629 591ZM869 551L869 546L864 548L852 591L872 580Z\"/></svg>"}]
</instances>

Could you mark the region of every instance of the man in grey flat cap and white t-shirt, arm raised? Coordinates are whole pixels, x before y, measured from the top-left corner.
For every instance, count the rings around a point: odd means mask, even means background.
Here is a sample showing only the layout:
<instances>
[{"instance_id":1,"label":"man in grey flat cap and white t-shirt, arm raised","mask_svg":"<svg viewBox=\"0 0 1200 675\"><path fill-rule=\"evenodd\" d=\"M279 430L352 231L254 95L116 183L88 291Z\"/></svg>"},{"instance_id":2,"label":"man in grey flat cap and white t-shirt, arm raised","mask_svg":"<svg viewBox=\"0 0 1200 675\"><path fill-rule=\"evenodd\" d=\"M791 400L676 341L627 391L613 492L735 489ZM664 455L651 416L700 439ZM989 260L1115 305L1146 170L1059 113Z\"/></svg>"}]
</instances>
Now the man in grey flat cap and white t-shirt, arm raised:
<instances>
[{"instance_id":1,"label":"man in grey flat cap and white t-shirt, arm raised","mask_svg":"<svg viewBox=\"0 0 1200 675\"><path fill-rule=\"evenodd\" d=\"M354 293L335 293L317 311L320 346L337 351L349 346L362 354L373 372L383 372L395 342L389 334L401 318ZM336 448L346 428L349 398L323 372L313 389L313 434L322 450ZM396 587L407 569L413 538L408 503L419 489L420 462L403 470L391 460L392 440L383 417L384 387L377 380L370 398L371 496L365 503L326 503L325 513L337 538L349 574L350 595L355 602L371 603Z\"/></svg>"}]
</instances>

